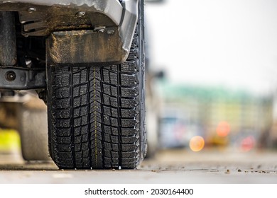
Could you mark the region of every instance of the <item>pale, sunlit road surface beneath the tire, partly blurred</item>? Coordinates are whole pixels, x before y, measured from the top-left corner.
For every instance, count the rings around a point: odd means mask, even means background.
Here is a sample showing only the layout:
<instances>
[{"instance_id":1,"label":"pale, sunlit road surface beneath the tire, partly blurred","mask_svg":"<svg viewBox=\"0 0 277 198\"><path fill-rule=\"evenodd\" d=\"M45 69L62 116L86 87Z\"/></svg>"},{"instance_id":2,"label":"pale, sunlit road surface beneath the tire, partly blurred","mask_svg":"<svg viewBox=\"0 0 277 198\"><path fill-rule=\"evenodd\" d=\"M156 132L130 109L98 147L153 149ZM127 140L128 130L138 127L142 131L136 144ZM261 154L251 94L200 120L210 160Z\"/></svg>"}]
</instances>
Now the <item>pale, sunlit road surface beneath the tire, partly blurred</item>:
<instances>
[{"instance_id":1,"label":"pale, sunlit road surface beneath the tire, partly blurred","mask_svg":"<svg viewBox=\"0 0 277 198\"><path fill-rule=\"evenodd\" d=\"M136 170L58 170L18 153L0 154L0 183L277 183L277 151L164 150Z\"/></svg>"}]
</instances>

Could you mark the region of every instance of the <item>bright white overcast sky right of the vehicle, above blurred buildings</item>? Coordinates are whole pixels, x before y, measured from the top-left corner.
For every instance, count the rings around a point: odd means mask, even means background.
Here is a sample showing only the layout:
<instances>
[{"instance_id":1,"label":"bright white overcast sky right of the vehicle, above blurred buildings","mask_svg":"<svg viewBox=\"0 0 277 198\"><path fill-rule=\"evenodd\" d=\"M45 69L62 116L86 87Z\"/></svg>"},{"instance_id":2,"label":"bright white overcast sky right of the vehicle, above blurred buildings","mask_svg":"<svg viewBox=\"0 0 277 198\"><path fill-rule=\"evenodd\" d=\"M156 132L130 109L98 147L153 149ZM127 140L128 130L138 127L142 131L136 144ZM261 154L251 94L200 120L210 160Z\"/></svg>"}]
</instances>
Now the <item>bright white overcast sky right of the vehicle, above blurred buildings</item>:
<instances>
[{"instance_id":1,"label":"bright white overcast sky right of the vehicle, above blurred buildings","mask_svg":"<svg viewBox=\"0 0 277 198\"><path fill-rule=\"evenodd\" d=\"M277 90L276 0L146 3L153 66L170 81Z\"/></svg>"}]
</instances>

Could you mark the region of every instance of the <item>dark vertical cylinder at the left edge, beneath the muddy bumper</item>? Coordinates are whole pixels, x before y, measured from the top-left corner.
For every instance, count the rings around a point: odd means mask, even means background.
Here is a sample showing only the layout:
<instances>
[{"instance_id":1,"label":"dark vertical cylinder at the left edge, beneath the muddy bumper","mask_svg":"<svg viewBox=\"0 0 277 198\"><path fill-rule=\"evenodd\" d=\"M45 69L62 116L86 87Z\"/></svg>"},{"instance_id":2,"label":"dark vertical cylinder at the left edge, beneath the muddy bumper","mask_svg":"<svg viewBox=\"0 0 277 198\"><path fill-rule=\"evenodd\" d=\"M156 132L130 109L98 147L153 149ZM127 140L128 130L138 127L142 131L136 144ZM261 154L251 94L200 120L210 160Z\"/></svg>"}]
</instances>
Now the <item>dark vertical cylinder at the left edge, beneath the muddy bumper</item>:
<instances>
[{"instance_id":1,"label":"dark vertical cylinder at the left edge, beneath the muddy bumper","mask_svg":"<svg viewBox=\"0 0 277 198\"><path fill-rule=\"evenodd\" d=\"M0 11L0 66L16 64L16 25L14 13Z\"/></svg>"}]
</instances>

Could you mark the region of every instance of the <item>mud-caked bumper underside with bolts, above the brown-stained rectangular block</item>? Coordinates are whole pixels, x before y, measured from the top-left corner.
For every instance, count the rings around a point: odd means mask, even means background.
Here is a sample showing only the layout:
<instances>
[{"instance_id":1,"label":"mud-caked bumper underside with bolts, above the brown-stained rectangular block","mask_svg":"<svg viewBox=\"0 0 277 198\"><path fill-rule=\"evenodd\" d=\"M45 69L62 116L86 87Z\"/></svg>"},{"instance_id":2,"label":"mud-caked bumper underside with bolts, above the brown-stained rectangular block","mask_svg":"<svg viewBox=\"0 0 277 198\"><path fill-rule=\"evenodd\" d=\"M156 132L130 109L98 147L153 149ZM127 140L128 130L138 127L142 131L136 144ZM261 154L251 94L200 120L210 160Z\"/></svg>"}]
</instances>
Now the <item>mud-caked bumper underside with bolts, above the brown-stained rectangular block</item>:
<instances>
[{"instance_id":1,"label":"mud-caked bumper underside with bolts, above the brown-stained rectangular block","mask_svg":"<svg viewBox=\"0 0 277 198\"><path fill-rule=\"evenodd\" d=\"M23 35L43 36L94 25L118 26L123 8L117 0L0 0L0 11L19 13Z\"/></svg>"}]
</instances>

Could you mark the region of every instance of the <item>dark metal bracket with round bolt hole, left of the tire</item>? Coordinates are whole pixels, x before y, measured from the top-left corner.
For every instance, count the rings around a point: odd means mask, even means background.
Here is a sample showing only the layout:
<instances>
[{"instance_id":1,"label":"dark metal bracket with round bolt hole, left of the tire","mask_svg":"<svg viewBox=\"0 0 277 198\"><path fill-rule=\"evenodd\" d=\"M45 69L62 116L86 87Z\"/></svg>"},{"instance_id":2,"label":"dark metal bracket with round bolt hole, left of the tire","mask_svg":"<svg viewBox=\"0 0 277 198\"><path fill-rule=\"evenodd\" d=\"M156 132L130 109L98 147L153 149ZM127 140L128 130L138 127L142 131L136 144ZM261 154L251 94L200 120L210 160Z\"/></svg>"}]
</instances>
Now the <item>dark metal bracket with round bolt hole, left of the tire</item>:
<instances>
[{"instance_id":1,"label":"dark metal bracket with round bolt hole, left of the tire","mask_svg":"<svg viewBox=\"0 0 277 198\"><path fill-rule=\"evenodd\" d=\"M0 67L0 89L27 90L46 88L45 69Z\"/></svg>"}]
</instances>

